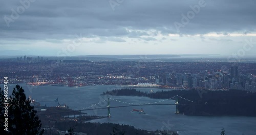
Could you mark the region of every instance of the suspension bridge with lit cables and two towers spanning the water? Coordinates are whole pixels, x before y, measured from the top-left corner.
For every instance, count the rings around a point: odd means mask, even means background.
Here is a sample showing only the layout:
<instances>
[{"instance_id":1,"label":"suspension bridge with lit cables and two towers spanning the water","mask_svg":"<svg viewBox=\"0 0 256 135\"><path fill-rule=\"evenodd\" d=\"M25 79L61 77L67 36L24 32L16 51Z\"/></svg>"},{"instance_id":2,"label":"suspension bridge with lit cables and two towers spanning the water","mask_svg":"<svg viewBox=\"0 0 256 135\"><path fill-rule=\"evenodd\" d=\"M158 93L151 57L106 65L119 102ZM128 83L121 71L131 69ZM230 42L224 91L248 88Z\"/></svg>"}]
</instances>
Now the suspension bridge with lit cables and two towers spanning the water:
<instances>
[{"instance_id":1,"label":"suspension bridge with lit cables and two towers spanning the water","mask_svg":"<svg viewBox=\"0 0 256 135\"><path fill-rule=\"evenodd\" d=\"M57 113L72 113L72 112L79 112L81 113L81 111L86 111L86 110L96 110L96 109L108 109L108 117L110 117L110 108L121 108L121 107L131 107L131 106L148 106L148 105L176 105L176 114L179 114L179 105L185 105L185 104L179 104L179 99L183 99L189 102L194 102L191 101L189 99L183 98L179 95L176 95L172 98L168 98L168 99L164 99L158 102L151 102L151 103L130 103L130 102L124 102L124 101L119 101L116 99L112 99L112 98L108 98L105 99L97 104L93 104L91 106L79 109L79 110L72 110L72 111L63 111L63 112L56 112L56 113L47 113L47 114L40 114L40 115L50 115L50 114L57 114ZM122 106L110 106L110 100L115 101L115 102L120 102L120 103L124 103L124 104L129 104L129 105L122 105ZM175 100L175 104L159 104L161 102L167 101L167 100ZM101 104L103 102L107 102L108 105L106 105L106 107L99 107L99 108L94 108L94 106Z\"/></svg>"}]
</instances>

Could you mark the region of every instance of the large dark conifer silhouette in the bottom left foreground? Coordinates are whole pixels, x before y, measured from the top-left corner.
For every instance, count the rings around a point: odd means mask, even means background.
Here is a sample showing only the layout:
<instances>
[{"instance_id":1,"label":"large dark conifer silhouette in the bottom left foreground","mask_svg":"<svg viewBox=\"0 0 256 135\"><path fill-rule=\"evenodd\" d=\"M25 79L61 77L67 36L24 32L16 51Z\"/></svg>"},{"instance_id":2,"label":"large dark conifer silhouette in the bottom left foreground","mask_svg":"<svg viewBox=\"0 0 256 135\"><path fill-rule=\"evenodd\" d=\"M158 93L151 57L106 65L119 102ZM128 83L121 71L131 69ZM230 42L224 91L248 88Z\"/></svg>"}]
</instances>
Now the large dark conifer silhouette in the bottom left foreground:
<instances>
[{"instance_id":1,"label":"large dark conifer silhouette in the bottom left foreground","mask_svg":"<svg viewBox=\"0 0 256 135\"><path fill-rule=\"evenodd\" d=\"M41 121L36 116L36 110L26 99L24 89L19 85L13 88L9 99L8 134L42 134Z\"/></svg>"}]
</instances>

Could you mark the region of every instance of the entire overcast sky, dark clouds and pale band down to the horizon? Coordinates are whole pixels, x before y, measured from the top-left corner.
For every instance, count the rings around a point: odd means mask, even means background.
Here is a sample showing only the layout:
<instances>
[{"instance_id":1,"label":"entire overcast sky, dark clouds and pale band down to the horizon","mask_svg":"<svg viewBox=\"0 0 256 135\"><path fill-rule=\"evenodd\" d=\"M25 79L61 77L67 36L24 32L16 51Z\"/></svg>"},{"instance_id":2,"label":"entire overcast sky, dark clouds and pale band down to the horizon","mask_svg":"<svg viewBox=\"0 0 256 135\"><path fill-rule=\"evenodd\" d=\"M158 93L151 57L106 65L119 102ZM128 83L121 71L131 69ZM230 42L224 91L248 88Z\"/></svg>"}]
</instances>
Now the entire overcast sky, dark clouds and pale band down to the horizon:
<instances>
[{"instance_id":1,"label":"entire overcast sky, dark clouds and pale band down to the horizon","mask_svg":"<svg viewBox=\"0 0 256 135\"><path fill-rule=\"evenodd\" d=\"M23 1L1 0L0 55L256 55L253 0Z\"/></svg>"}]
</instances>

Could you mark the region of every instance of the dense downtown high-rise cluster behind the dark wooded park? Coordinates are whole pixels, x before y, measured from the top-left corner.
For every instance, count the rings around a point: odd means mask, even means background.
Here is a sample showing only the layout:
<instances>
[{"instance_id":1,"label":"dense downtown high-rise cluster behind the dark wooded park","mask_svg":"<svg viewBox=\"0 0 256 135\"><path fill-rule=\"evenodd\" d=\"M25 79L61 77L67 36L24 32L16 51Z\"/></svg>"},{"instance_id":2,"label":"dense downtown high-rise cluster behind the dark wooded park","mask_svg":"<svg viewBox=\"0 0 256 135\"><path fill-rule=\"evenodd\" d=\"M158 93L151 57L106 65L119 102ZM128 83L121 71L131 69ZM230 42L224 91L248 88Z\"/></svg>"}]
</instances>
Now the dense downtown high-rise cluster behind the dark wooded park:
<instances>
[{"instance_id":1,"label":"dense downtown high-rise cluster behind the dark wooded park","mask_svg":"<svg viewBox=\"0 0 256 135\"><path fill-rule=\"evenodd\" d=\"M227 72L205 70L197 74L168 73L156 76L157 84L187 88L241 89L256 91L255 75L239 74L238 66L232 66Z\"/></svg>"}]
</instances>

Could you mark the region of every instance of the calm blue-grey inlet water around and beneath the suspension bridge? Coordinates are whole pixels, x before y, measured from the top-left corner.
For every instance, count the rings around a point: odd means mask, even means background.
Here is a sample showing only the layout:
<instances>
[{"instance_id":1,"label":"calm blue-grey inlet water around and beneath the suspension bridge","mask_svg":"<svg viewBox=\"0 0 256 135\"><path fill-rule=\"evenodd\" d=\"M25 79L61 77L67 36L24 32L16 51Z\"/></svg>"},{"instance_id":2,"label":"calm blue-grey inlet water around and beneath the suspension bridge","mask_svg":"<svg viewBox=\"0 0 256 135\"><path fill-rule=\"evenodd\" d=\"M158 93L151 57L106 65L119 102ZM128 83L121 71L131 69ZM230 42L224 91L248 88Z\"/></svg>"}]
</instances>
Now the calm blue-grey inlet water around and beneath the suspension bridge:
<instances>
[{"instance_id":1,"label":"calm blue-grey inlet water around and beneath the suspension bridge","mask_svg":"<svg viewBox=\"0 0 256 135\"><path fill-rule=\"evenodd\" d=\"M0 85L3 88L3 85ZM15 85L9 84L9 94ZM56 106L53 102L59 97L59 103L65 102L73 109L81 109L91 106L107 99L109 96L99 96L106 90L116 89L117 86L86 86L86 87L59 87L59 86L29 86L22 84L27 95L39 101L42 105ZM30 89L30 91L29 91ZM32 90L31 90L32 89ZM158 88L137 88L140 91L154 92L162 91ZM168 91L168 89L163 89ZM110 98L130 103L151 103L161 100L150 99L146 97L130 97L130 96L111 96ZM49 101L49 102L46 102ZM126 105L124 103L110 101L111 106ZM173 100L162 102L163 104L171 103ZM106 107L106 102L102 102L94 108ZM131 113L132 109L140 109L146 112L146 115ZM186 116L176 115L175 106L135 106L124 108L111 108L112 118L93 120L92 122L112 122L119 124L129 124L136 128L146 130L178 130L179 134L208 134L218 135L221 129L225 127L226 134L256 134L256 117L203 117L203 116ZM106 109L86 111L89 115L106 116Z\"/></svg>"}]
</instances>

